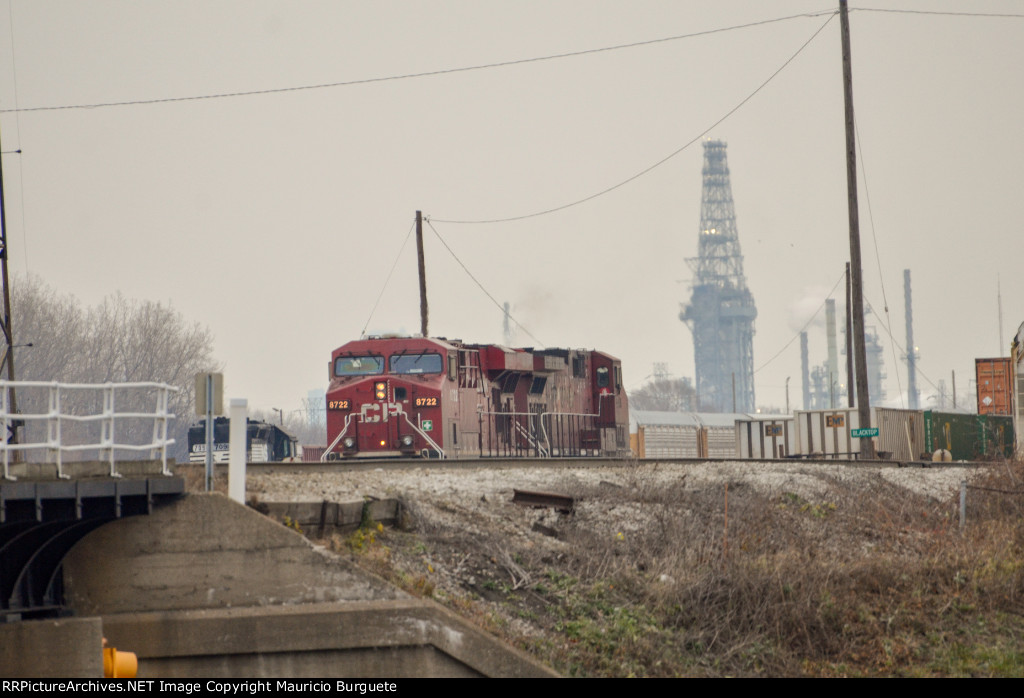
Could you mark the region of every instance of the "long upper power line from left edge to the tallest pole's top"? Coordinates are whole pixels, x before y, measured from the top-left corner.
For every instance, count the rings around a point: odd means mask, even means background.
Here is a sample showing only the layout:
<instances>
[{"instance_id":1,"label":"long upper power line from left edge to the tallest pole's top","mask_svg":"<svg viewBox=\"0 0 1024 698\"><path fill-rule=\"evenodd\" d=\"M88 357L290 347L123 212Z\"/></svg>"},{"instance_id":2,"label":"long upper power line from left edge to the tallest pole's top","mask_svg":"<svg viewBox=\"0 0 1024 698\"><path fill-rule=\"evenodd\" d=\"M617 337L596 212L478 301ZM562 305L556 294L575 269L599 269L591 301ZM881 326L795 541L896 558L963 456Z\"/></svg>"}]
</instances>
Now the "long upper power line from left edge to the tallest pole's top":
<instances>
[{"instance_id":1,"label":"long upper power line from left edge to the tallest pole's top","mask_svg":"<svg viewBox=\"0 0 1024 698\"><path fill-rule=\"evenodd\" d=\"M178 101L201 101L205 99L226 99L230 97L251 97L263 94L282 94L285 92L302 92L306 90L323 90L333 87L352 87L355 85L370 85L373 83L382 82L393 82L396 80L413 80L417 78L432 78L440 75L452 75L455 73L469 73L470 71L484 71L494 68L508 68L511 66L523 66L526 63L542 62L545 60L558 60L560 58L571 58L581 55L590 55L594 53L604 53L607 51L618 51L627 48L639 48L641 46L650 46L652 44L667 43L670 41L681 41L683 39L693 39L696 37L710 36L713 34L722 34L724 32L732 32L740 29L750 29L752 27L760 27L763 25L771 25L779 21L787 21L790 19L798 19L801 17L816 17L822 14L835 14L834 10L822 11L822 12L806 12L802 14L791 14L783 17L774 17L771 19L760 19L758 21L750 21L743 25L733 25L731 27L721 27L719 29L709 29L702 32L692 32L690 34L678 34L671 37L662 37L659 39L647 39L645 41L634 41L628 44L616 44L614 46L602 46L599 48L587 48L581 51L566 51L564 53L552 53L550 55L532 56L529 58L514 58L512 60L500 60L492 63L480 63L477 66L463 66L460 68L444 68L436 71L424 71L422 73L406 73L401 75L390 75L380 78L358 78L355 80L344 80L332 83L317 83L313 85L293 85L289 87L270 87L260 90L245 90L237 92L216 92L211 94L199 94L199 95L186 95L182 97L157 97L154 99L128 99L123 101L108 101L108 102L94 102L87 104L57 104L52 106L27 106L25 108L14 107L12 110L0 110L0 114L18 113L18 112L55 112L55 111L66 111L66 110L94 110L102 108L108 106L137 106L141 104L166 104L170 102Z\"/></svg>"}]
</instances>

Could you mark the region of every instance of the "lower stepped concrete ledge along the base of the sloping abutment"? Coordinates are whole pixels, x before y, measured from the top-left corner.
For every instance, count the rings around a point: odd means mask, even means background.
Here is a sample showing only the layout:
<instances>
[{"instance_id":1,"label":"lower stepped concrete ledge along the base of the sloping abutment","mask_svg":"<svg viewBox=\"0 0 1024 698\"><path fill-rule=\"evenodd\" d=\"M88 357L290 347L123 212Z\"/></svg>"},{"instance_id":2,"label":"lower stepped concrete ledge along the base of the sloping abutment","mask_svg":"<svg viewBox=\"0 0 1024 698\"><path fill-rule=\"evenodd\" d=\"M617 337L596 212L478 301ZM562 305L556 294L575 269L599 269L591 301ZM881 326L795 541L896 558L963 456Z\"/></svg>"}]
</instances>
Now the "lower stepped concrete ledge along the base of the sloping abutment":
<instances>
[{"instance_id":1,"label":"lower stepped concrete ledge along the base of the sloping abutment","mask_svg":"<svg viewBox=\"0 0 1024 698\"><path fill-rule=\"evenodd\" d=\"M114 615L103 630L146 677L551 675L417 599Z\"/></svg>"}]
</instances>

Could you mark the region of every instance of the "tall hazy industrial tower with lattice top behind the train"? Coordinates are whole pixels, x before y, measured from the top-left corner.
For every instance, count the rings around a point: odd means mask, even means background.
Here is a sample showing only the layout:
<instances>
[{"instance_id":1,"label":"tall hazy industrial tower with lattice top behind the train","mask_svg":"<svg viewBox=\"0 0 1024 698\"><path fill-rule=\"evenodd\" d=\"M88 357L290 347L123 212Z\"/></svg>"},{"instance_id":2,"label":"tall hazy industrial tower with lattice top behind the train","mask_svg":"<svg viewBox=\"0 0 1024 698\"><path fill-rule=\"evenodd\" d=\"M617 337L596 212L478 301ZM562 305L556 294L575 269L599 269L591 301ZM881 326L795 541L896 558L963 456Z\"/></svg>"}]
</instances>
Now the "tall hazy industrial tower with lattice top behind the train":
<instances>
[{"instance_id":1,"label":"tall hazy industrial tower with lattice top behind the train","mask_svg":"<svg viewBox=\"0 0 1024 698\"><path fill-rule=\"evenodd\" d=\"M697 400L701 411L753 412L754 297L743 275L725 142L703 143L703 187L693 295L679 319L693 333Z\"/></svg>"}]
</instances>

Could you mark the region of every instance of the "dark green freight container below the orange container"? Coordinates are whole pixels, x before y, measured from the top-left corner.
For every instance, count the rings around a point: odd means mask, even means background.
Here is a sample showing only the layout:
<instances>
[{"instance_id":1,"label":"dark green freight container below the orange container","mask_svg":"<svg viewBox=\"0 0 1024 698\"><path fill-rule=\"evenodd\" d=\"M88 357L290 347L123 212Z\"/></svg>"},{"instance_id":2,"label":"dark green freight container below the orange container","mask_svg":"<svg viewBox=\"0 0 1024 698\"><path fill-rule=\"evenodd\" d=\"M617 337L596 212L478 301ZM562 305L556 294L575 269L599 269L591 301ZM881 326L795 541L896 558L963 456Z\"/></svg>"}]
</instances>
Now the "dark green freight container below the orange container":
<instances>
[{"instance_id":1,"label":"dark green freight container below the orange container","mask_svg":"<svg viewBox=\"0 0 1024 698\"><path fill-rule=\"evenodd\" d=\"M925 411L925 445L931 452L945 448L953 461L1011 457L1014 421L994 415Z\"/></svg>"}]
</instances>

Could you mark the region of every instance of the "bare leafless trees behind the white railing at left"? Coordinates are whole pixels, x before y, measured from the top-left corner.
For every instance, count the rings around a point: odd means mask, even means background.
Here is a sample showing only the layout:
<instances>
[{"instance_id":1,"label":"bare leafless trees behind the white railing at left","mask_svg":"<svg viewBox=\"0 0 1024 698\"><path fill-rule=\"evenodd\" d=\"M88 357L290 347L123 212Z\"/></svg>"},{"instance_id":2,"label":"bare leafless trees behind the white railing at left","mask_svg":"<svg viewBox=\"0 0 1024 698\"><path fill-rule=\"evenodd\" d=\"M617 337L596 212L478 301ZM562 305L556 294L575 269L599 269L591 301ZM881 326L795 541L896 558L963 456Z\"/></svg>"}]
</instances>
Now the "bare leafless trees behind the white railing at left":
<instances>
[{"instance_id":1,"label":"bare leafless trees behind the white railing at left","mask_svg":"<svg viewBox=\"0 0 1024 698\"><path fill-rule=\"evenodd\" d=\"M170 436L172 454L187 455L187 431L195 402L195 376L216 370L213 334L198 322L189 323L170 305L128 300L117 294L99 305L83 309L78 299L61 296L37 277L15 279L12 285L12 326L17 333L17 378L25 381L66 383L126 383L154 381L180 389L170 410L177 416ZM61 398L65 399L65 398ZM73 410L96 411L98 395L69 394ZM127 392L118 395L119 411L152 410L152 395ZM23 411L41 411L46 395L24 391ZM42 424L28 428L43 428ZM129 436L152 435L152 422L123 425ZM121 430L122 427L119 427ZM146 439L147 440L147 439Z\"/></svg>"}]
</instances>

